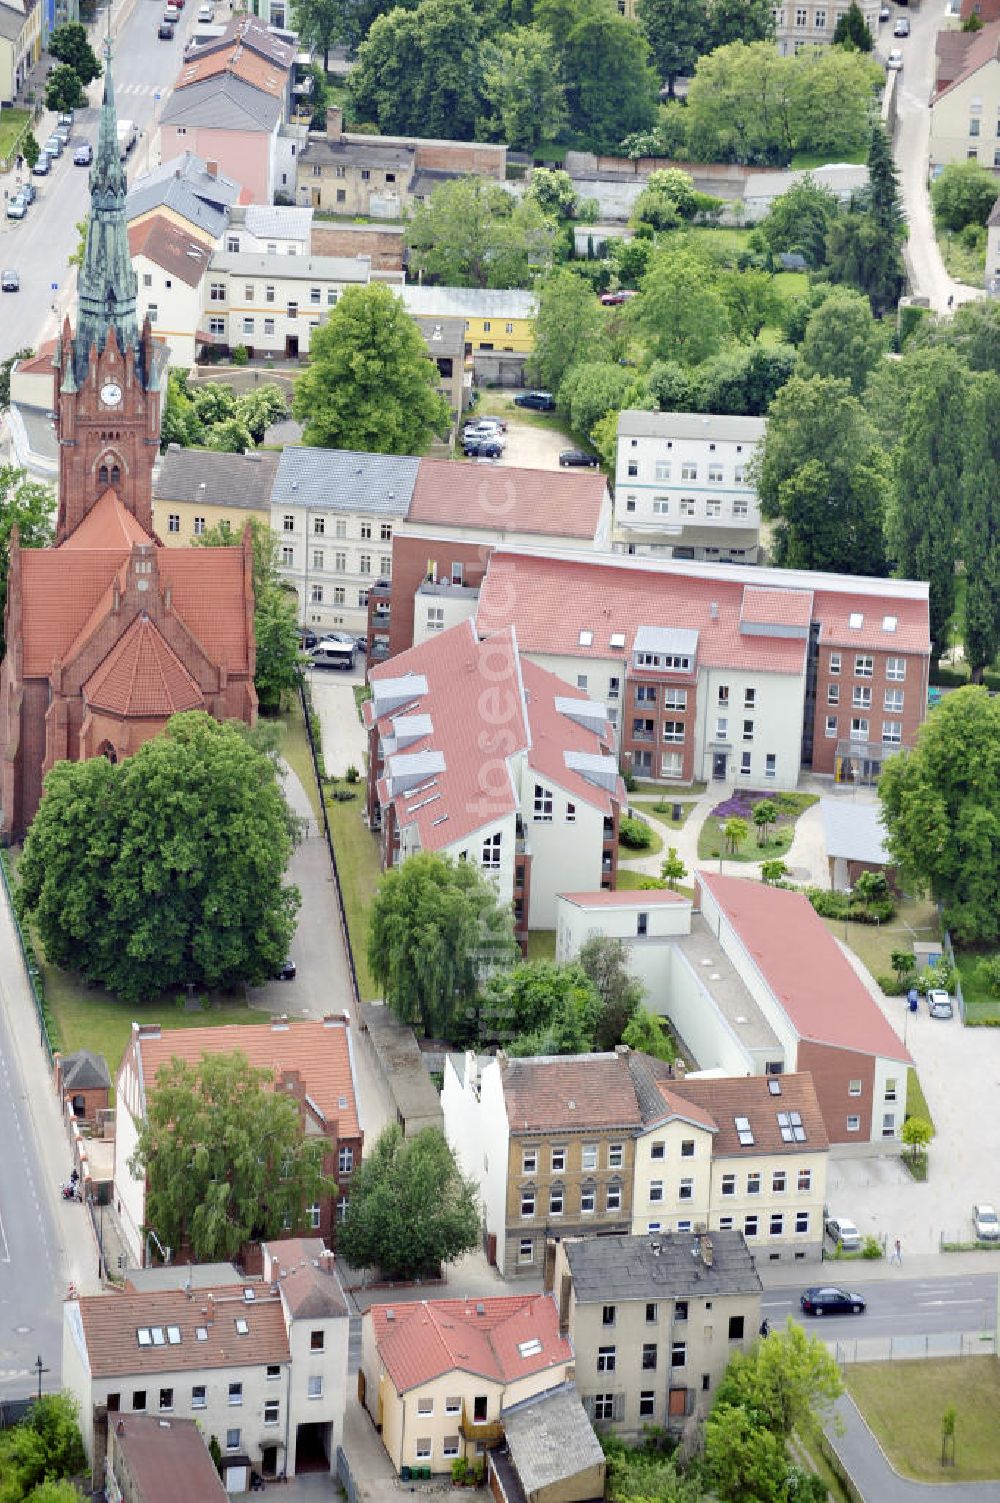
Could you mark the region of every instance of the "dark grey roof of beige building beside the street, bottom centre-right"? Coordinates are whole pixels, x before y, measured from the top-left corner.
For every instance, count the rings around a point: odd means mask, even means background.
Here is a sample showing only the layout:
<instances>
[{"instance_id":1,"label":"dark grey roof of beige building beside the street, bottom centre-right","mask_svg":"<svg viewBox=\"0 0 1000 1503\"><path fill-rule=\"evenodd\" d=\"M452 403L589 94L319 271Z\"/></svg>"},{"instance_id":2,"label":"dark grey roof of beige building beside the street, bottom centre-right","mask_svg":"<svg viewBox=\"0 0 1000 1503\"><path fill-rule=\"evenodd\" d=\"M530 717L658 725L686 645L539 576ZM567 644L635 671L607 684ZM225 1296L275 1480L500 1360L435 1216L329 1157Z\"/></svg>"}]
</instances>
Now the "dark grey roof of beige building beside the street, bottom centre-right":
<instances>
[{"instance_id":1,"label":"dark grey roof of beige building beside the street, bottom centre-right","mask_svg":"<svg viewBox=\"0 0 1000 1503\"><path fill-rule=\"evenodd\" d=\"M582 1237L564 1246L577 1305L761 1291L753 1254L740 1231Z\"/></svg>"}]
</instances>

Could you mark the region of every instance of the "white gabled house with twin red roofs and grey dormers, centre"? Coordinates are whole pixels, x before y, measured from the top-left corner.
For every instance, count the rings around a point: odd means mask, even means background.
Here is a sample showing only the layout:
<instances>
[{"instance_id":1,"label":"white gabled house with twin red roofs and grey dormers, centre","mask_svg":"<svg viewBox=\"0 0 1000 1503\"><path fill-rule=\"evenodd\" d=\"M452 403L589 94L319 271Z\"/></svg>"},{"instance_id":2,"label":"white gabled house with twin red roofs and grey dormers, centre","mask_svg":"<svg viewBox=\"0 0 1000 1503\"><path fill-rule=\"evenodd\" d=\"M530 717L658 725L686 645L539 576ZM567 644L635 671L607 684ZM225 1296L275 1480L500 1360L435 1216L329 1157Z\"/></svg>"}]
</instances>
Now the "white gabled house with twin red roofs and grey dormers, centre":
<instances>
[{"instance_id":1,"label":"white gabled house with twin red roofs and grey dormers, centre","mask_svg":"<svg viewBox=\"0 0 1000 1503\"><path fill-rule=\"evenodd\" d=\"M373 669L368 821L382 864L477 863L514 932L552 929L567 870L614 887L624 785L605 706L463 621Z\"/></svg>"}]
</instances>

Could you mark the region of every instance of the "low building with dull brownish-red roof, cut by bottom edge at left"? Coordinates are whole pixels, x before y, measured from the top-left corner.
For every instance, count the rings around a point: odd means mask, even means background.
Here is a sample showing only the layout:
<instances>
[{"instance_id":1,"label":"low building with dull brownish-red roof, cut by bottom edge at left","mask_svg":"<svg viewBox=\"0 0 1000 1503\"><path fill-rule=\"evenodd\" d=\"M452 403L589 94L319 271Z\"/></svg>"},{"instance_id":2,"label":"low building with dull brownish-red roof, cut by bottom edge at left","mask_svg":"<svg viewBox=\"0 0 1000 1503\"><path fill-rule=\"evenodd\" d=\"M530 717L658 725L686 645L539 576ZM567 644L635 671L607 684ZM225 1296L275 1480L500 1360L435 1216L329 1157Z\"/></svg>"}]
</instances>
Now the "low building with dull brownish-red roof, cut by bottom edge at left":
<instances>
[{"instance_id":1,"label":"low building with dull brownish-red roof, cut by bottom edge at left","mask_svg":"<svg viewBox=\"0 0 1000 1503\"><path fill-rule=\"evenodd\" d=\"M108 1425L107 1503L227 1503L208 1441L192 1419L119 1414Z\"/></svg>"}]
</instances>

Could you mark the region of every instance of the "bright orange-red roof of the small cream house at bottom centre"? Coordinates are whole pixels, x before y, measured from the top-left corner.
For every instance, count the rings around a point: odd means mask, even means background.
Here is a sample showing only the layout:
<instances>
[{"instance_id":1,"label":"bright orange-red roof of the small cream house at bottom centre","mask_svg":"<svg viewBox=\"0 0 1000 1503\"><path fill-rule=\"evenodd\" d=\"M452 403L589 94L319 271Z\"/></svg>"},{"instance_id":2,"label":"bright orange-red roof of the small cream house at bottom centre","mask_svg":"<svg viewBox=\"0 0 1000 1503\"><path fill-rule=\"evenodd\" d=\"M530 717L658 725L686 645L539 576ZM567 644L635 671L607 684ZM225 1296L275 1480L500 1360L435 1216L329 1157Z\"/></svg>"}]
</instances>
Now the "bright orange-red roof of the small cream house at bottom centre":
<instances>
[{"instance_id":1,"label":"bright orange-red roof of the small cream house at bottom centre","mask_svg":"<svg viewBox=\"0 0 1000 1503\"><path fill-rule=\"evenodd\" d=\"M550 1294L373 1305L368 1317L397 1393L447 1372L514 1383L573 1360L573 1348L559 1336L559 1315ZM519 1344L535 1341L541 1342L541 1351L522 1356Z\"/></svg>"}]
</instances>

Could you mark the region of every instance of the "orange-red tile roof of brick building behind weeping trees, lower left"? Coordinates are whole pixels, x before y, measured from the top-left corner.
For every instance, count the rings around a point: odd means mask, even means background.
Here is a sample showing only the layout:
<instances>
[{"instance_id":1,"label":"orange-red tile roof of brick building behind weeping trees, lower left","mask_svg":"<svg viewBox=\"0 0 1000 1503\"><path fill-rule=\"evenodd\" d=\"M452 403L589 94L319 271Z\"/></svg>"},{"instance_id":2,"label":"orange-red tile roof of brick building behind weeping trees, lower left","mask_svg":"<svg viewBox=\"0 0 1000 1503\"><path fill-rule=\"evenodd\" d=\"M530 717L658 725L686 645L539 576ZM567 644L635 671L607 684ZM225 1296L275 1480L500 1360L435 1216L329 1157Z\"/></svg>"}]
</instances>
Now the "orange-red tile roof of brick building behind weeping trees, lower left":
<instances>
[{"instance_id":1,"label":"orange-red tile roof of brick building behind weeping trees, lower left","mask_svg":"<svg viewBox=\"0 0 1000 1503\"><path fill-rule=\"evenodd\" d=\"M286 1070L298 1070L307 1094L329 1123L338 1124L341 1138L356 1138L361 1132L350 1039L340 1019L227 1024L159 1034L140 1028L132 1034L126 1061L132 1049L140 1055L147 1099L155 1088L156 1072L171 1060L197 1064L205 1054L242 1054L253 1066L272 1070L275 1079Z\"/></svg>"}]
</instances>

